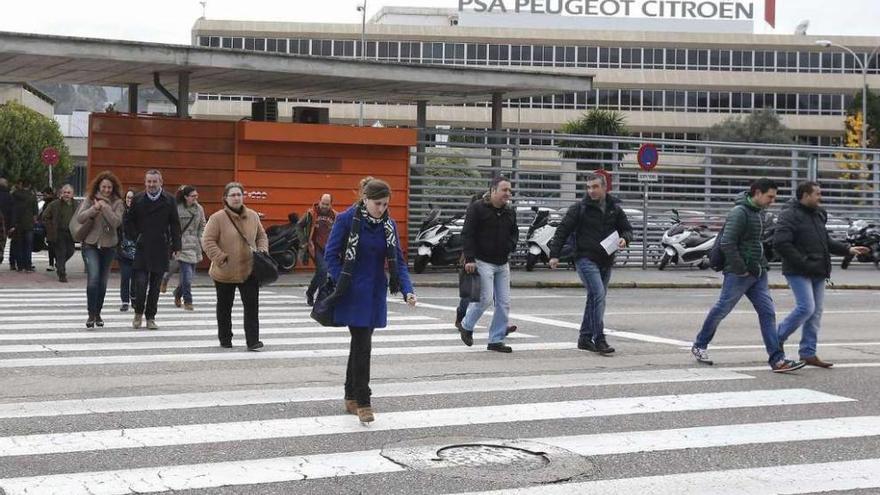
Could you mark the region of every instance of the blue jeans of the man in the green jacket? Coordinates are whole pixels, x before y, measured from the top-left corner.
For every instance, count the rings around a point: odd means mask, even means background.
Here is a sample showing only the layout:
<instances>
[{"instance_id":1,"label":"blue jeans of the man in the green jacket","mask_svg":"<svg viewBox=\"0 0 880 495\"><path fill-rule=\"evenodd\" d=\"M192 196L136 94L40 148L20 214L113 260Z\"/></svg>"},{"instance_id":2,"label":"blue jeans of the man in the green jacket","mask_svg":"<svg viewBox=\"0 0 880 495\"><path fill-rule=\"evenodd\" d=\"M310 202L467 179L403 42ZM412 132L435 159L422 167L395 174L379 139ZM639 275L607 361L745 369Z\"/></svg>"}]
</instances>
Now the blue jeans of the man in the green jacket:
<instances>
[{"instance_id":1,"label":"blue jeans of the man in the green jacket","mask_svg":"<svg viewBox=\"0 0 880 495\"><path fill-rule=\"evenodd\" d=\"M715 331L736 306L736 303L745 295L752 302L758 313L758 321L761 325L761 337L764 339L764 347L770 357L768 362L774 365L785 359L782 346L779 344L779 334L776 329L776 308L773 298L770 297L770 286L767 285L767 273L756 278L754 275L739 277L733 273L724 274L724 283L721 286L721 296L718 302L709 310L703 328L694 340L694 346L705 349L715 336Z\"/></svg>"}]
</instances>

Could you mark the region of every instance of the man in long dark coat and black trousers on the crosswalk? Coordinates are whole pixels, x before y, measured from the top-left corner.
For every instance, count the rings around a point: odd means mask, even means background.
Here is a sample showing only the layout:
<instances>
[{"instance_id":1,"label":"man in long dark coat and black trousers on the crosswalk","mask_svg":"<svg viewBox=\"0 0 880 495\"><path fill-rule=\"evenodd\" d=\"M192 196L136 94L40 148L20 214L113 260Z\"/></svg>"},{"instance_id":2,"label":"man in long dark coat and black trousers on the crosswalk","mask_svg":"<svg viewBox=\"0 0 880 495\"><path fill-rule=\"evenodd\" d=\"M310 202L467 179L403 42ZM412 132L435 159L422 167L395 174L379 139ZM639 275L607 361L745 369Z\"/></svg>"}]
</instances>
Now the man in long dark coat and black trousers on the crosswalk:
<instances>
[{"instance_id":1,"label":"man in long dark coat and black trousers on the crosswalk","mask_svg":"<svg viewBox=\"0 0 880 495\"><path fill-rule=\"evenodd\" d=\"M125 214L125 235L136 239L134 258L132 328L140 328L144 315L147 328L157 330L156 310L162 275L168 271L168 260L180 252L180 220L174 196L162 189L162 174L148 170L144 176L144 192L136 195Z\"/></svg>"}]
</instances>

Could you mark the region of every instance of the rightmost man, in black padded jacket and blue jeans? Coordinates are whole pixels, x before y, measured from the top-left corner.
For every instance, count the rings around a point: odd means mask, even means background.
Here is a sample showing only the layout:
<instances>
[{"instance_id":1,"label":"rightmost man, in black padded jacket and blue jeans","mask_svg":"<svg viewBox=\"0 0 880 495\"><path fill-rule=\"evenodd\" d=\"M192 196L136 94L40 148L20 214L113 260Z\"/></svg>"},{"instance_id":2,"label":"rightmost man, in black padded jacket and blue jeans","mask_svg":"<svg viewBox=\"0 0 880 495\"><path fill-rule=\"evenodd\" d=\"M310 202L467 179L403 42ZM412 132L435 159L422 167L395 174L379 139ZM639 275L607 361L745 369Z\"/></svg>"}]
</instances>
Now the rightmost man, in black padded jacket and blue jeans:
<instances>
[{"instance_id":1,"label":"rightmost man, in black padded jacket and blue jeans","mask_svg":"<svg viewBox=\"0 0 880 495\"><path fill-rule=\"evenodd\" d=\"M831 277L831 254L845 256L866 252L865 247L850 247L828 235L828 214L819 206L822 191L815 182L804 182L796 198L779 215L773 248L782 258L782 274L794 293L795 308L779 325L779 345L803 325L800 358L811 366L830 368L832 363L819 359L816 343L822 321L825 281Z\"/></svg>"}]
</instances>

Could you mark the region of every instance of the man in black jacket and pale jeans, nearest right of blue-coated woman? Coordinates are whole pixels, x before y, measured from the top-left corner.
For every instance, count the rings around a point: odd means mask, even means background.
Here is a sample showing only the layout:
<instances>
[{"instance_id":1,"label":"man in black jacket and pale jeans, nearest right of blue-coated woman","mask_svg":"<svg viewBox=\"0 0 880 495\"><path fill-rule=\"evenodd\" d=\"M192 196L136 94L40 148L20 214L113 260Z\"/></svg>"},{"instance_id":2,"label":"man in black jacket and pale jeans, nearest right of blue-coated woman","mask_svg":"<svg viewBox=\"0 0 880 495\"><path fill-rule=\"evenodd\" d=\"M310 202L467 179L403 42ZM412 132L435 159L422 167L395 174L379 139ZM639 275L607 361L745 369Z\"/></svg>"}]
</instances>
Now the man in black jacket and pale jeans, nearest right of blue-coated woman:
<instances>
[{"instance_id":1,"label":"man in black jacket and pale jeans, nearest right of blue-coated woman","mask_svg":"<svg viewBox=\"0 0 880 495\"><path fill-rule=\"evenodd\" d=\"M474 327L494 301L495 313L489 325L490 351L513 352L504 344L510 312L510 253L519 241L516 210L509 205L513 191L504 177L492 180L489 195L468 207L461 231L464 270L480 276L480 301L471 303L457 325L462 342L474 344Z\"/></svg>"}]
</instances>

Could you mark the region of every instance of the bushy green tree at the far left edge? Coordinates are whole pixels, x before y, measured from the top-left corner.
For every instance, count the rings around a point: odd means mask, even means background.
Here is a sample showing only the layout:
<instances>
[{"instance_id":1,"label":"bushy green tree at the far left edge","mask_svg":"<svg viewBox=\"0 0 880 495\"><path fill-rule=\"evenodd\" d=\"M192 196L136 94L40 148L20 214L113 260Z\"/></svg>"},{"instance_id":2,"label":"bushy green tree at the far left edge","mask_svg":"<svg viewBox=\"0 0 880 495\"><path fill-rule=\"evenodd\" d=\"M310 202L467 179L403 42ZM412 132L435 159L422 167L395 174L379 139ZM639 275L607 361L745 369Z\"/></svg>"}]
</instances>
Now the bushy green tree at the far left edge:
<instances>
[{"instance_id":1,"label":"bushy green tree at the far left edge","mask_svg":"<svg viewBox=\"0 0 880 495\"><path fill-rule=\"evenodd\" d=\"M0 105L0 176L13 183L28 180L45 187L49 170L43 164L42 152L49 146L60 155L53 171L56 186L73 172L70 151L58 124L14 101Z\"/></svg>"}]
</instances>

